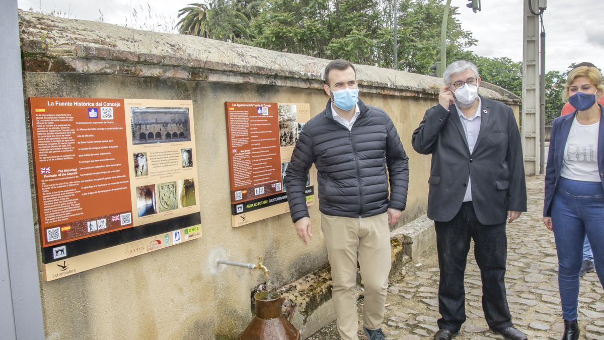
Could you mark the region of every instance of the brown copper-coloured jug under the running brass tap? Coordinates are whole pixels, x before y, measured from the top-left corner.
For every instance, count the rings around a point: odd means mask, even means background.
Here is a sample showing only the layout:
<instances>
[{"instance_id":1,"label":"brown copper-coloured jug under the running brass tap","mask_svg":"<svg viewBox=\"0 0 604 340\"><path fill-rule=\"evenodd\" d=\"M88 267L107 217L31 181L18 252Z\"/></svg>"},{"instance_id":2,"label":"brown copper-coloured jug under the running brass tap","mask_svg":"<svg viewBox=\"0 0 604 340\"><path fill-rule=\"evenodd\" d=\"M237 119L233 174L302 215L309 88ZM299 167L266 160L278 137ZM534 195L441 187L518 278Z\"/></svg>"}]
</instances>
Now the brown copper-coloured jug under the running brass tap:
<instances>
[{"instance_id":1,"label":"brown copper-coloured jug under the running brass tap","mask_svg":"<svg viewBox=\"0 0 604 340\"><path fill-rule=\"evenodd\" d=\"M258 292L255 293L254 300L256 315L241 334L241 340L300 339L300 332L290 322L295 311L291 299L281 297L275 292Z\"/></svg>"}]
</instances>

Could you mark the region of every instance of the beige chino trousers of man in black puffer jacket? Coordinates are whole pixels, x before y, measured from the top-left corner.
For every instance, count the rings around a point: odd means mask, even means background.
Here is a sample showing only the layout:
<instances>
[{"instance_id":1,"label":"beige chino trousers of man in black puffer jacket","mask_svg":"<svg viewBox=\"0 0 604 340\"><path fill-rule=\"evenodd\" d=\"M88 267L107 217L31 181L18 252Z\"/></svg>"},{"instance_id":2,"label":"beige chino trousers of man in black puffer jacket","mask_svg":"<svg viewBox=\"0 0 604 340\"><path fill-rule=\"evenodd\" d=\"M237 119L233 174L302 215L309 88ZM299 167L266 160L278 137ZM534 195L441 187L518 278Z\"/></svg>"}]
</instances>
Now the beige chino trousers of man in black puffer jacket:
<instances>
[{"instance_id":1,"label":"beige chino trousers of man in black puffer jacket","mask_svg":"<svg viewBox=\"0 0 604 340\"><path fill-rule=\"evenodd\" d=\"M332 267L332 299L338 332L344 340L358 340L357 261L365 287L363 324L367 329L378 329L384 321L388 274L392 264L388 214L365 218L322 214L321 229Z\"/></svg>"}]
</instances>

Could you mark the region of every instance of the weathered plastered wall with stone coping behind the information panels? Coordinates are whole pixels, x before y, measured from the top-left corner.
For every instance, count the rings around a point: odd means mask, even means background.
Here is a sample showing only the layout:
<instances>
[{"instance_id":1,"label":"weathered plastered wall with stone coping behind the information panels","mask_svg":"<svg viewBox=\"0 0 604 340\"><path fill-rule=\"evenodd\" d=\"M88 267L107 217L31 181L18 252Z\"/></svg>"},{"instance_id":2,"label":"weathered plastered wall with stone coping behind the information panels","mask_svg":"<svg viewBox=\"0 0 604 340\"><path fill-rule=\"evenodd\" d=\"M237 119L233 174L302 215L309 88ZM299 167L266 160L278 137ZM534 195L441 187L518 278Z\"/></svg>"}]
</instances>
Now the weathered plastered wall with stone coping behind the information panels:
<instances>
[{"instance_id":1,"label":"weathered plastered wall with stone coping behind the information panels","mask_svg":"<svg viewBox=\"0 0 604 340\"><path fill-rule=\"evenodd\" d=\"M315 115L327 100L321 78L329 60L23 11L19 17L25 97L193 100L196 159L204 165L195 178L205 198L203 237L41 282L47 338L236 338L251 319L250 291L263 275L216 260L261 255L277 286L326 265L318 204L310 208L309 246L288 214L231 227L224 102L310 103ZM442 80L361 65L357 76L361 98L390 114L410 157L402 221L413 220L426 211L429 157L413 151L411 133L437 103ZM518 114L519 99L506 91L483 87L481 94Z\"/></svg>"}]
</instances>

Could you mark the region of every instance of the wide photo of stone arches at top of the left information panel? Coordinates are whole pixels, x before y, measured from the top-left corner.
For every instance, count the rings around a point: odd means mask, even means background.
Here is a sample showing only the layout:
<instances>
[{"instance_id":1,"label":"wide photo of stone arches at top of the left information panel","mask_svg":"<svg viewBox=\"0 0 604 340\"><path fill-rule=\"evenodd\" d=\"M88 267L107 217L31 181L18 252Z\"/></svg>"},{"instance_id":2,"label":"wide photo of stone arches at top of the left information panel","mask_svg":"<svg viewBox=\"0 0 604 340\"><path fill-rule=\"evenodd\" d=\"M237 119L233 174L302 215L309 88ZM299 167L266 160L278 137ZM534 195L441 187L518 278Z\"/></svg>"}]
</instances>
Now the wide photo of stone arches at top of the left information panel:
<instances>
[{"instance_id":1,"label":"wide photo of stone arches at top of the left information panel","mask_svg":"<svg viewBox=\"0 0 604 340\"><path fill-rule=\"evenodd\" d=\"M132 143L191 140L188 108L132 108Z\"/></svg>"}]
</instances>

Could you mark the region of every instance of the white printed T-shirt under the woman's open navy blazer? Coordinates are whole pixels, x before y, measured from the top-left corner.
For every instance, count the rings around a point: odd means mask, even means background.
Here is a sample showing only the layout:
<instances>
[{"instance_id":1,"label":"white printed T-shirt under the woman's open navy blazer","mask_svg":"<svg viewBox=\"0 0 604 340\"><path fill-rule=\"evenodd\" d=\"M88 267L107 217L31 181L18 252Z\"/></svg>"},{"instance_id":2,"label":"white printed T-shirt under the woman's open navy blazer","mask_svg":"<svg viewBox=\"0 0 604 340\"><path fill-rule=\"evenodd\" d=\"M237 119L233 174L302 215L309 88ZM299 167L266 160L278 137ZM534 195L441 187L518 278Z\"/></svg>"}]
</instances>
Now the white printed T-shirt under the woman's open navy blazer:
<instances>
[{"instance_id":1,"label":"white printed T-shirt under the woman's open navy blazer","mask_svg":"<svg viewBox=\"0 0 604 340\"><path fill-rule=\"evenodd\" d=\"M598 131L600 122L581 125L575 116L562 157L560 175L569 180L599 182Z\"/></svg>"}]
</instances>

